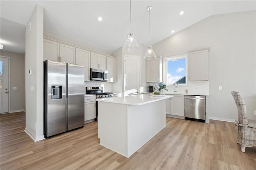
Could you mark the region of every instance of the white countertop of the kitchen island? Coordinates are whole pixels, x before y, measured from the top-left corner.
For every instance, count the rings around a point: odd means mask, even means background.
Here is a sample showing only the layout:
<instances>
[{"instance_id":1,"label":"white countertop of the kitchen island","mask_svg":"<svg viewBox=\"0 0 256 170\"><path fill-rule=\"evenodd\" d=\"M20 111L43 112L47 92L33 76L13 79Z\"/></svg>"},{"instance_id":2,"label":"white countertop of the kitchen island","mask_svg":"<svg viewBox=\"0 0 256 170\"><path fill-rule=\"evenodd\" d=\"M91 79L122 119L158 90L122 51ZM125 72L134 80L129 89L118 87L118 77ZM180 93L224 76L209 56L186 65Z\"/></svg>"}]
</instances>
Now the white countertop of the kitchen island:
<instances>
[{"instance_id":1,"label":"white countertop of the kitchen island","mask_svg":"<svg viewBox=\"0 0 256 170\"><path fill-rule=\"evenodd\" d=\"M119 104L126 104L126 105L145 105L147 103L164 100L171 97L173 96L166 95L162 97L152 97L147 94L140 94L140 95L131 95L131 96L124 96L124 97L110 97L110 98L104 98L104 99L96 99L96 101L119 103Z\"/></svg>"}]
</instances>

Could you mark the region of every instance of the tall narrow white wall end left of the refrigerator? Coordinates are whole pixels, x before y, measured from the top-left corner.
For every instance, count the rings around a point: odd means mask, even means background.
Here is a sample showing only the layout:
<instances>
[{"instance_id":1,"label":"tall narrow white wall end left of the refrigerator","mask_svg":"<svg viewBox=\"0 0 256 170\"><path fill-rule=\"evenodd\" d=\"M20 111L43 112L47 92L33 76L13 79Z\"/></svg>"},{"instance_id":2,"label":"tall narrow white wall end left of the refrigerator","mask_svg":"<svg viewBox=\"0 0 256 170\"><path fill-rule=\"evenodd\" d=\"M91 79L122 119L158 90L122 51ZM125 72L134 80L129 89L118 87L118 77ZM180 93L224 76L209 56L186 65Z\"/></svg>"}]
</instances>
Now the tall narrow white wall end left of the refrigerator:
<instances>
[{"instance_id":1,"label":"tall narrow white wall end left of the refrigerator","mask_svg":"<svg viewBox=\"0 0 256 170\"><path fill-rule=\"evenodd\" d=\"M43 37L44 8L36 5L28 22L31 31L26 34L25 79L26 79L26 128L25 132L34 140L44 139L44 68ZM32 75L28 73L32 69ZM33 86L35 91L30 91Z\"/></svg>"}]
</instances>

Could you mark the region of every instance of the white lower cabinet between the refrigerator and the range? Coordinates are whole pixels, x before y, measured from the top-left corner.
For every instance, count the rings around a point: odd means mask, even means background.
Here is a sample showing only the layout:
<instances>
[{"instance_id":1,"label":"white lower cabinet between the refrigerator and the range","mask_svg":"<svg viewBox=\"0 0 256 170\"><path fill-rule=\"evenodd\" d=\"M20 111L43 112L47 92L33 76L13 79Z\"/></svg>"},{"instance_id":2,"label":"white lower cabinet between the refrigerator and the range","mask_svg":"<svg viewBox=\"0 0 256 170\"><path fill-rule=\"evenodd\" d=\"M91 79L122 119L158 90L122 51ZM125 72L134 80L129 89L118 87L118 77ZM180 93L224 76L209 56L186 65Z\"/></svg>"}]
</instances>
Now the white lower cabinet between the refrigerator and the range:
<instances>
[{"instance_id":1,"label":"white lower cabinet between the refrigerator and the range","mask_svg":"<svg viewBox=\"0 0 256 170\"><path fill-rule=\"evenodd\" d=\"M96 118L96 96L84 97L84 121Z\"/></svg>"}]
</instances>

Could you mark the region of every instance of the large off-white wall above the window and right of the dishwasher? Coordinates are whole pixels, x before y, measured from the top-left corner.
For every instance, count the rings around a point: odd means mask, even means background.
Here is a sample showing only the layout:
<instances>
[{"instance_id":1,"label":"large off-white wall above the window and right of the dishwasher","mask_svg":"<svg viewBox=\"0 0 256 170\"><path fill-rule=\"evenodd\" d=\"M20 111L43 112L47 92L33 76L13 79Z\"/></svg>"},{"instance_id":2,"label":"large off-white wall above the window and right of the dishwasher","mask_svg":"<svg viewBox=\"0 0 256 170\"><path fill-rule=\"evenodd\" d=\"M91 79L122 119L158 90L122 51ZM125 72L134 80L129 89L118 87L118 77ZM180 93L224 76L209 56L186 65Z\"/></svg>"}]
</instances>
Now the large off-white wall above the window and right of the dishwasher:
<instances>
[{"instance_id":1,"label":"large off-white wall above the window and right of the dishwasher","mask_svg":"<svg viewBox=\"0 0 256 170\"><path fill-rule=\"evenodd\" d=\"M248 118L256 119L256 16L255 11L210 16L153 45L163 57L210 47L209 116L210 119L238 119L230 94L240 91ZM223 90L218 90L222 86Z\"/></svg>"}]
</instances>

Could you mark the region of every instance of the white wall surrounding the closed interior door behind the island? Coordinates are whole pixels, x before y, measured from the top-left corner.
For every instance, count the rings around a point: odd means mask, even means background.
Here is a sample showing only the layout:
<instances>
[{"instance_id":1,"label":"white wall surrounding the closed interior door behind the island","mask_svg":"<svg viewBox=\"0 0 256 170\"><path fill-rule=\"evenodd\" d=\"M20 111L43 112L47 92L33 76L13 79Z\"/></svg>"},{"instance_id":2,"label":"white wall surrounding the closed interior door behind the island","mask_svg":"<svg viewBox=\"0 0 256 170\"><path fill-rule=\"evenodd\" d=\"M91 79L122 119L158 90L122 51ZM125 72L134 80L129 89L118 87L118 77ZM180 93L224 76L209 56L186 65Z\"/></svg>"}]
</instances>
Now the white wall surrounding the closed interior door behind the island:
<instances>
[{"instance_id":1,"label":"white wall surrounding the closed interior door behind the island","mask_svg":"<svg viewBox=\"0 0 256 170\"><path fill-rule=\"evenodd\" d=\"M147 46L139 44L140 49L138 51L128 52L124 51L122 47L118 48L116 51L112 52L112 56L116 57L116 83L112 84L113 92L123 92L123 69L124 69L124 56L129 55L139 55L140 56L140 89L143 89L143 92L147 92L147 83L146 83L146 60L144 55L146 53ZM124 94L122 94L124 95Z\"/></svg>"}]
</instances>

